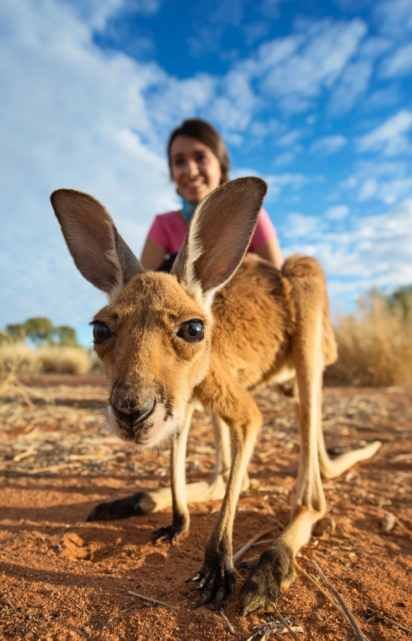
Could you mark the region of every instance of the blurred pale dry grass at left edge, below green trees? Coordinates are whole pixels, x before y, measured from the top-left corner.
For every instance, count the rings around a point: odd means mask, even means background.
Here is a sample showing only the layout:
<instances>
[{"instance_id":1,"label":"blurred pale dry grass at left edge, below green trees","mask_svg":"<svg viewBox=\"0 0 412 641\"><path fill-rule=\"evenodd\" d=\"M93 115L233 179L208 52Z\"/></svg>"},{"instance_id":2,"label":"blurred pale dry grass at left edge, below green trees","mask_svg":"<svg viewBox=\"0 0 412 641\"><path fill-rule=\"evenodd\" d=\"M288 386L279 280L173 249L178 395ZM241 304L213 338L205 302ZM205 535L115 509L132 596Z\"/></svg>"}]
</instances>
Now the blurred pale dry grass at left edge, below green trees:
<instances>
[{"instance_id":1,"label":"blurred pale dry grass at left edge, below green trees","mask_svg":"<svg viewBox=\"0 0 412 641\"><path fill-rule=\"evenodd\" d=\"M2 372L87 374L97 367L97 359L81 347L48 345L34 350L24 343L0 345Z\"/></svg>"}]
</instances>

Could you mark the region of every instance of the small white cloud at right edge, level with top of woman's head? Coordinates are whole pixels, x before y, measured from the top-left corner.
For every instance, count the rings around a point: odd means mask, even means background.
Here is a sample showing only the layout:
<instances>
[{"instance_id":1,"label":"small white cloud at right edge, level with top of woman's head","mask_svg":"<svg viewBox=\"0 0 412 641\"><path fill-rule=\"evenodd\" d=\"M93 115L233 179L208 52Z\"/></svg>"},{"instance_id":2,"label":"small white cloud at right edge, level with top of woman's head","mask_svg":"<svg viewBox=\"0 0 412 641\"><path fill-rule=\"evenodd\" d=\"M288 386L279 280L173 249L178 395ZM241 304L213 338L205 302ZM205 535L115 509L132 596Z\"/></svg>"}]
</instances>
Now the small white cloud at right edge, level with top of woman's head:
<instances>
[{"instance_id":1,"label":"small white cloud at right edge, level with top of woman's head","mask_svg":"<svg viewBox=\"0 0 412 641\"><path fill-rule=\"evenodd\" d=\"M384 155L394 156L409 149L409 140L405 134L412 127L412 112L401 109L395 116L387 119L370 133L358 138L358 150L361 152L382 151Z\"/></svg>"}]
</instances>

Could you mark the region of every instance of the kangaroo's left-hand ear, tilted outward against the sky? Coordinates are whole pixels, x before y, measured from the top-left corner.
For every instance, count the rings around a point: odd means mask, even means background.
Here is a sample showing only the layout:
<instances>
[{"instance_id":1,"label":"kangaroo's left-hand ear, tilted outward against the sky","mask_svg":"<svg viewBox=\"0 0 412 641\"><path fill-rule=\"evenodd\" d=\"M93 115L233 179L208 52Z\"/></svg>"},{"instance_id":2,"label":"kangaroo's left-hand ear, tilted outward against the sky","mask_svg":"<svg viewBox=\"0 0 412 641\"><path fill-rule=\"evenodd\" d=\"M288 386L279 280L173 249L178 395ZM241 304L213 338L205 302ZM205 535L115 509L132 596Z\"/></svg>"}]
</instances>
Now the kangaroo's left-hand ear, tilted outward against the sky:
<instances>
[{"instance_id":1,"label":"kangaroo's left-hand ear, tilted outward against the sky","mask_svg":"<svg viewBox=\"0 0 412 641\"><path fill-rule=\"evenodd\" d=\"M50 200L76 267L95 287L113 298L145 271L99 200L74 189L57 189Z\"/></svg>"}]
</instances>

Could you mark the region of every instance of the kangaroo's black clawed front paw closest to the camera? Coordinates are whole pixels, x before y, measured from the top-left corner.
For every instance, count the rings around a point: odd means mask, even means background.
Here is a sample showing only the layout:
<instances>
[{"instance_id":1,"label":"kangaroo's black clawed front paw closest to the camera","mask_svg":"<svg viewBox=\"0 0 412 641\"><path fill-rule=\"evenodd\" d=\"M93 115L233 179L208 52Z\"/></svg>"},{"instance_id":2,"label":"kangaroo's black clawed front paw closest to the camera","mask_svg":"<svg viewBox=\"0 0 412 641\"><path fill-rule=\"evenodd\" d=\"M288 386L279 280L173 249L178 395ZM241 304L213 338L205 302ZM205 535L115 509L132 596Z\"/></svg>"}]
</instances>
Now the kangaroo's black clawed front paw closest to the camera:
<instances>
[{"instance_id":1,"label":"kangaroo's black clawed front paw closest to the camera","mask_svg":"<svg viewBox=\"0 0 412 641\"><path fill-rule=\"evenodd\" d=\"M228 594L233 594L235 589L235 575L231 555L219 552L206 553L202 569L190 579L187 579L186 583L190 581L196 583L191 592L195 592L195 590L202 591L202 596L195 604L195 609L210 601L216 594L216 609L219 610L225 597Z\"/></svg>"}]
</instances>

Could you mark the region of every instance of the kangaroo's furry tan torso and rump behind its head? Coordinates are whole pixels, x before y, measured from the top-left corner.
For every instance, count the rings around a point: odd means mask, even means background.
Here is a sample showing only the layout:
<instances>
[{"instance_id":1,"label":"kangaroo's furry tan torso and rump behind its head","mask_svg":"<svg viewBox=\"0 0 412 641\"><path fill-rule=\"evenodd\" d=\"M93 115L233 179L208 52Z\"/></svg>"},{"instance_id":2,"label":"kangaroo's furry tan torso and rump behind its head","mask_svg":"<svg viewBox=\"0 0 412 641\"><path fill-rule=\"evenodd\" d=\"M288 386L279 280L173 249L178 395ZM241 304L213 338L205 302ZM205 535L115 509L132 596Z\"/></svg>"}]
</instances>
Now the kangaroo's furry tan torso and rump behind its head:
<instances>
[{"instance_id":1,"label":"kangaroo's furry tan torso and rump behind its head","mask_svg":"<svg viewBox=\"0 0 412 641\"><path fill-rule=\"evenodd\" d=\"M289 380L294 375L291 338L296 317L310 304L322 305L326 365L337 351L325 276L317 260L291 256L278 270L257 256L246 256L214 299L211 370L227 371L247 389Z\"/></svg>"}]
</instances>

